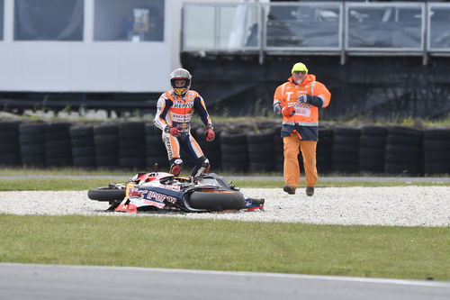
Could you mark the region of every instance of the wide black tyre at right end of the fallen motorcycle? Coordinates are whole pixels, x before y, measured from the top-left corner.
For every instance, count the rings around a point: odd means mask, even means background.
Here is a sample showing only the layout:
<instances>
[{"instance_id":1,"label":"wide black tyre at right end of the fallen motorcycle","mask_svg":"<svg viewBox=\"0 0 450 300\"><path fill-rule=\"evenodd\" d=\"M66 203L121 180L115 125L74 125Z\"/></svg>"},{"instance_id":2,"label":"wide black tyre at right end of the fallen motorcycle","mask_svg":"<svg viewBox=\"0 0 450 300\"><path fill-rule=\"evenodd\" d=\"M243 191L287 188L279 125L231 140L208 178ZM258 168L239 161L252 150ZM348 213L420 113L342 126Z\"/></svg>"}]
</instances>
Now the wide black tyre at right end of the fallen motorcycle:
<instances>
[{"instance_id":1,"label":"wide black tyre at right end of the fallen motorcycle","mask_svg":"<svg viewBox=\"0 0 450 300\"><path fill-rule=\"evenodd\" d=\"M208 211L238 210L245 206L244 195L238 191L193 192L189 196L189 205L195 209Z\"/></svg>"}]
</instances>

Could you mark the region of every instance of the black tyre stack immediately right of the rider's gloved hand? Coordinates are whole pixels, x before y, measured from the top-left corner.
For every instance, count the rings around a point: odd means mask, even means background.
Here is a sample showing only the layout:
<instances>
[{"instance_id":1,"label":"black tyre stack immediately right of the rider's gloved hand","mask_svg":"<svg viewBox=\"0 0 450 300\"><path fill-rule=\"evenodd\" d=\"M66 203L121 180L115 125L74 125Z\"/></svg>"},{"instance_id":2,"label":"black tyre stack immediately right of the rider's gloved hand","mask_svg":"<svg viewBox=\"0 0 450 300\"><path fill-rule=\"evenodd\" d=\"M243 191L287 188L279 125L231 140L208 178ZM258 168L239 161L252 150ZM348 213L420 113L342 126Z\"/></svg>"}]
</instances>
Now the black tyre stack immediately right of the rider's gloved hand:
<instances>
[{"instance_id":1,"label":"black tyre stack immediately right of the rider's gloved hand","mask_svg":"<svg viewBox=\"0 0 450 300\"><path fill-rule=\"evenodd\" d=\"M247 172L247 133L244 128L229 128L220 132L220 152L222 170Z\"/></svg>"}]
</instances>

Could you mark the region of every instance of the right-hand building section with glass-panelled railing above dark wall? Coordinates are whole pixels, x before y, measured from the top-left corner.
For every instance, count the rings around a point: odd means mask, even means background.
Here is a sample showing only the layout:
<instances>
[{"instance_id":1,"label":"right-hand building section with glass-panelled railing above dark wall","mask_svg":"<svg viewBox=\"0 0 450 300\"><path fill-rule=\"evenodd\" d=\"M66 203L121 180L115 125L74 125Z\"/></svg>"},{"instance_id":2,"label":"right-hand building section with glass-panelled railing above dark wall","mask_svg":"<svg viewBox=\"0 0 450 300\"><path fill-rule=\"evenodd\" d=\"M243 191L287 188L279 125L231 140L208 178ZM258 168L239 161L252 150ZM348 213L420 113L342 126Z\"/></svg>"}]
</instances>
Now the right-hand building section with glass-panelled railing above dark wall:
<instances>
[{"instance_id":1,"label":"right-hand building section with glass-panelled railing above dark wall","mask_svg":"<svg viewBox=\"0 0 450 300\"><path fill-rule=\"evenodd\" d=\"M275 87L302 61L333 95L326 119L450 114L446 1L186 3L183 27L182 64L212 113L271 114Z\"/></svg>"}]
</instances>

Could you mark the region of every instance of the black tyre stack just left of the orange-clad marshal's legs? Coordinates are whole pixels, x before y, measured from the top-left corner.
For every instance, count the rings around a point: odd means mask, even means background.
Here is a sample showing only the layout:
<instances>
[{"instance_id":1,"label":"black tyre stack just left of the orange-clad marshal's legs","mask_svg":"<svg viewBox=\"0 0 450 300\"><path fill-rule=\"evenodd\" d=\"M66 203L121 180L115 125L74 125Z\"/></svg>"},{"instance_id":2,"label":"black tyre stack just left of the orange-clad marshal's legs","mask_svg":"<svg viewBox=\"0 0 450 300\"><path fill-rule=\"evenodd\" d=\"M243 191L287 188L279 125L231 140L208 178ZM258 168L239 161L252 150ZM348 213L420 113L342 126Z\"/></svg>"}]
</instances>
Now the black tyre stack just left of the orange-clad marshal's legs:
<instances>
[{"instance_id":1,"label":"black tyre stack just left of the orange-clad marshal's legs","mask_svg":"<svg viewBox=\"0 0 450 300\"><path fill-rule=\"evenodd\" d=\"M270 172L275 169L274 130L247 133L250 172Z\"/></svg>"}]
</instances>

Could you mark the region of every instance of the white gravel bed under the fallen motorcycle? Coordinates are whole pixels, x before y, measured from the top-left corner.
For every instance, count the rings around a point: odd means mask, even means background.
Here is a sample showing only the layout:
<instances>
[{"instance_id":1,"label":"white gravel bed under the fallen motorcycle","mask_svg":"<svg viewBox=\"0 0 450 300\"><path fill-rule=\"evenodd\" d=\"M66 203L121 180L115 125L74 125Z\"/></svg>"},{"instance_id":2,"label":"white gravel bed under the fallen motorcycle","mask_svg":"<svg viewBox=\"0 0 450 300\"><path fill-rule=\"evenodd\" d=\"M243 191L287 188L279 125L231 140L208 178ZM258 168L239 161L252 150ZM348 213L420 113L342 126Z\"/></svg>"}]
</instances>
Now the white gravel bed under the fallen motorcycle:
<instances>
[{"instance_id":1,"label":"white gravel bed under the fallen motorcycle","mask_svg":"<svg viewBox=\"0 0 450 300\"><path fill-rule=\"evenodd\" d=\"M244 188L247 196L266 198L264 211L215 214L158 213L182 218L256 222L362 224L387 226L450 226L450 187L326 187L312 197L303 189L287 195L282 189ZM103 213L108 203L87 198L86 191L0 192L0 214L135 214Z\"/></svg>"}]
</instances>

